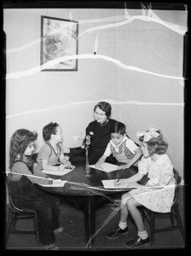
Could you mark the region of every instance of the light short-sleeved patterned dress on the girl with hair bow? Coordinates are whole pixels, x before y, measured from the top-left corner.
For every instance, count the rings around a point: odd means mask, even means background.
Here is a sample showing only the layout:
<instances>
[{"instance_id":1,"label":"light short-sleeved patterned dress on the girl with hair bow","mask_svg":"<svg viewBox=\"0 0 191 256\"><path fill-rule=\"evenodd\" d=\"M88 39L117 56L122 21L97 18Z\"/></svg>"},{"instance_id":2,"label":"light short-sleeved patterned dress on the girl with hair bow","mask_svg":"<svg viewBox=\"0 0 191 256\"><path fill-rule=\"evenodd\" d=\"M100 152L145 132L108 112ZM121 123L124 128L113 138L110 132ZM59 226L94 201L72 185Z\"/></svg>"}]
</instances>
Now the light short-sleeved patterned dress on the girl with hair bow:
<instances>
[{"instance_id":1,"label":"light short-sleeved patterned dress on the girl with hair bow","mask_svg":"<svg viewBox=\"0 0 191 256\"><path fill-rule=\"evenodd\" d=\"M173 166L167 154L163 154L156 161L150 157L142 160L138 165L139 172L150 178L145 188L132 189L129 194L136 201L153 212L171 212L171 205L175 195L175 179ZM152 188L147 188L147 187ZM164 186L153 188L153 186Z\"/></svg>"}]
</instances>

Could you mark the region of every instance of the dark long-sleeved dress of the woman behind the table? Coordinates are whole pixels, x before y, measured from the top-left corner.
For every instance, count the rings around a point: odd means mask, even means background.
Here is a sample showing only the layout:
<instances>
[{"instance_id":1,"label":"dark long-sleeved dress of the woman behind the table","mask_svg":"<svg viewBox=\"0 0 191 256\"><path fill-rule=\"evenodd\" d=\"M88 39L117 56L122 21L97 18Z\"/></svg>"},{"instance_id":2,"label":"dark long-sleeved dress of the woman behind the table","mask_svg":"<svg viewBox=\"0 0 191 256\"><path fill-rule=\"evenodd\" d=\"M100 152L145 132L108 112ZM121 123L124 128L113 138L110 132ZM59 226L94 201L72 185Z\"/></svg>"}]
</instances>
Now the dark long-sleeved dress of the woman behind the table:
<instances>
[{"instance_id":1,"label":"dark long-sleeved dress of the woman behind the table","mask_svg":"<svg viewBox=\"0 0 191 256\"><path fill-rule=\"evenodd\" d=\"M90 165L95 165L96 162L101 158L102 154L105 152L107 143L111 139L110 127L113 125L114 119L107 119L103 124L98 123L96 120L91 122L86 128L86 136L90 136L90 147L89 147L89 163ZM85 139L84 139L85 143ZM76 161L85 160L85 149L70 148L70 159L72 163ZM117 160L110 155L107 158L109 163L117 163Z\"/></svg>"}]
</instances>

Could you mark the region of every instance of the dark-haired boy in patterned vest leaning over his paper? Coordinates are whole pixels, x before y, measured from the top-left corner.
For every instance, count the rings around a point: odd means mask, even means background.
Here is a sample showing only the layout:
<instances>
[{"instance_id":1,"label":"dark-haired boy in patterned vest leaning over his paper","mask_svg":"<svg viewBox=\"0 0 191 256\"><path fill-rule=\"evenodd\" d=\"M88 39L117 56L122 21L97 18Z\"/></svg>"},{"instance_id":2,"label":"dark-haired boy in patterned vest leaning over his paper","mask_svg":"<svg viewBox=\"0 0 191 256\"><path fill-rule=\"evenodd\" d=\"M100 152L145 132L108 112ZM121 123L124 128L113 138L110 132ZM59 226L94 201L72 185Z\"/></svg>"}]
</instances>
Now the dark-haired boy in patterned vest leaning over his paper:
<instances>
[{"instance_id":1,"label":"dark-haired boy in patterned vest leaning over his paper","mask_svg":"<svg viewBox=\"0 0 191 256\"><path fill-rule=\"evenodd\" d=\"M115 121L110 128L111 140L107 144L107 148L101 158L97 161L96 167L101 167L110 154L119 162L125 163L119 166L119 169L130 168L132 165L137 165L137 161L142 156L142 149L136 146L125 132L125 125Z\"/></svg>"}]
</instances>

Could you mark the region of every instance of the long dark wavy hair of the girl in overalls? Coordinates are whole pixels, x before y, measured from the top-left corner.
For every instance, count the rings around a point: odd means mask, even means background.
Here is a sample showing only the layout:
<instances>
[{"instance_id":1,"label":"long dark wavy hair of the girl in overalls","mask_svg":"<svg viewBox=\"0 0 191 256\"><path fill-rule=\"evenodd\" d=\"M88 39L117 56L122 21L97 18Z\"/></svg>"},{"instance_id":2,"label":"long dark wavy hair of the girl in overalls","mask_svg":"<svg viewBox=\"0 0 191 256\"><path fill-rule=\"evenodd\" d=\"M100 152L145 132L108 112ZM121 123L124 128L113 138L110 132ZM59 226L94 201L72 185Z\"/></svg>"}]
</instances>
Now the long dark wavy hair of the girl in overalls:
<instances>
[{"instance_id":1,"label":"long dark wavy hair of the girl in overalls","mask_svg":"<svg viewBox=\"0 0 191 256\"><path fill-rule=\"evenodd\" d=\"M19 129L14 131L10 139L9 148L9 168L14 166L14 160L17 154L20 154L20 160L23 160L23 154L26 151L28 145L38 138L37 131L29 131L26 129Z\"/></svg>"}]
</instances>

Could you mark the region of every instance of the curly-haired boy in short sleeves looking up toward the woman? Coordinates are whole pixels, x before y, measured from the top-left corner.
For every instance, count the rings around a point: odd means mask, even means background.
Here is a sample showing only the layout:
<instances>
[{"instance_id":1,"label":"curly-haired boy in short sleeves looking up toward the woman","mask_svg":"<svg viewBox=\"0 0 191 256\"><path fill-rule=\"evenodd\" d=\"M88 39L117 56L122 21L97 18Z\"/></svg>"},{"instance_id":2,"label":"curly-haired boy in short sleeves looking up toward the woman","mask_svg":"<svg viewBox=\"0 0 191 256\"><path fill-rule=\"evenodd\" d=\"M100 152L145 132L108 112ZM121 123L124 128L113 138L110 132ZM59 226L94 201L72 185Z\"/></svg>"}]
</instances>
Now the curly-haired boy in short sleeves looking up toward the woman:
<instances>
[{"instance_id":1,"label":"curly-haired boy in short sleeves looking up toward the woman","mask_svg":"<svg viewBox=\"0 0 191 256\"><path fill-rule=\"evenodd\" d=\"M66 167L71 169L75 167L64 156L60 125L52 122L45 125L43 139L46 143L40 148L37 158L41 169L63 171Z\"/></svg>"}]
</instances>

